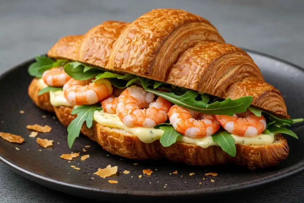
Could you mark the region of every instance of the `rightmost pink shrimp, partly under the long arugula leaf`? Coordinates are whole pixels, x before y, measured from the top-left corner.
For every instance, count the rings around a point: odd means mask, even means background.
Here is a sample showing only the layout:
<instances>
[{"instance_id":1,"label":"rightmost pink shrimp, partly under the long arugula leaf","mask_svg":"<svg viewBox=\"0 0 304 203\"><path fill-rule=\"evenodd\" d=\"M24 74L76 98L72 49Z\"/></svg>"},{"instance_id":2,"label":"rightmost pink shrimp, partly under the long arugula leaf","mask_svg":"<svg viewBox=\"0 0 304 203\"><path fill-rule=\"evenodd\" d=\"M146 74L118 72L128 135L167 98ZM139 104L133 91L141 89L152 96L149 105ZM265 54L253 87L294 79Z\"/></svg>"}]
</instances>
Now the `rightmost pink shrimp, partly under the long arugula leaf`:
<instances>
[{"instance_id":1,"label":"rightmost pink shrimp, partly under the long arugula leaf","mask_svg":"<svg viewBox=\"0 0 304 203\"><path fill-rule=\"evenodd\" d=\"M264 116L258 117L249 110L238 115L216 115L215 117L226 131L234 135L253 137L261 134L266 128Z\"/></svg>"}]
</instances>

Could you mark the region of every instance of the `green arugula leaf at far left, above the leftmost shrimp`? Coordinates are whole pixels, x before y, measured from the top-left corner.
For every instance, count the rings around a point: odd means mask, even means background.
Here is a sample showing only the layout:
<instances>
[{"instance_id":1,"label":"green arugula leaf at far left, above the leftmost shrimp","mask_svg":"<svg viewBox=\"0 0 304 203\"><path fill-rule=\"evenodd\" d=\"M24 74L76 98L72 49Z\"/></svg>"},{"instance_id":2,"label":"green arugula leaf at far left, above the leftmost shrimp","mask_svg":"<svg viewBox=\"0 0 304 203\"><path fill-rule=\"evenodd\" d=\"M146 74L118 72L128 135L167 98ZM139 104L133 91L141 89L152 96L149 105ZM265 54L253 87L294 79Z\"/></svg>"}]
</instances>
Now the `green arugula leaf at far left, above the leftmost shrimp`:
<instances>
[{"instance_id":1,"label":"green arugula leaf at far left, above the leftmost shrimp","mask_svg":"<svg viewBox=\"0 0 304 203\"><path fill-rule=\"evenodd\" d=\"M44 71L52 68L54 60L47 56L36 56L36 62L29 65L28 73L29 75L37 78L41 78Z\"/></svg>"}]
</instances>

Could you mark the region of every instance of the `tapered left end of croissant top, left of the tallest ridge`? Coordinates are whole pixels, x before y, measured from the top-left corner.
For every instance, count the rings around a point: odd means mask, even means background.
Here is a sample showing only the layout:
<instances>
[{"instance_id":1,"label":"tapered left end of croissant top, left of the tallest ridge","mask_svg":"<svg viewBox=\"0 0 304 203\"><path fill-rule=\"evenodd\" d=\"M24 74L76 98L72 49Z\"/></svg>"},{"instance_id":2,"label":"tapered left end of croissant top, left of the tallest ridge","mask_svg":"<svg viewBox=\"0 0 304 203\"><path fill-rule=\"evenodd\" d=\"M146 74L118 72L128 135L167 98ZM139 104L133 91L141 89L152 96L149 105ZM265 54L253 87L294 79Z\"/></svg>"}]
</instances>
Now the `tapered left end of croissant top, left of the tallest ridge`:
<instances>
[{"instance_id":1,"label":"tapered left end of croissant top, left of the tallest ridge","mask_svg":"<svg viewBox=\"0 0 304 203\"><path fill-rule=\"evenodd\" d=\"M84 35L62 37L47 55L105 68L114 42L128 25L125 22L105 21Z\"/></svg>"}]
</instances>

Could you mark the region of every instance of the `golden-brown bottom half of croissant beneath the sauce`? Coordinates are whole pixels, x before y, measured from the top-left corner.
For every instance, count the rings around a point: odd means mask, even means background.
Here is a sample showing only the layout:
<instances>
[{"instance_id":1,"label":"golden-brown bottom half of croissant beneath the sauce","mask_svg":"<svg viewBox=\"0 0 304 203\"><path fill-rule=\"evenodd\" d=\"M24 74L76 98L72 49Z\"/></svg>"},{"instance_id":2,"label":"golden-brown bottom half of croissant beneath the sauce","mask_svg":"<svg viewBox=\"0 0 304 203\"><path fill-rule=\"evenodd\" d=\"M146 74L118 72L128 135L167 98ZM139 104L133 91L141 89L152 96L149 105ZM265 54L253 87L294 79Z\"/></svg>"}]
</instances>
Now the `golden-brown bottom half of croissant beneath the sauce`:
<instances>
[{"instance_id":1,"label":"golden-brown bottom half of croissant beneath the sauce","mask_svg":"<svg viewBox=\"0 0 304 203\"><path fill-rule=\"evenodd\" d=\"M29 89L39 89L37 79L33 79ZM38 90L39 91L39 90ZM38 91L31 96L37 98ZM35 93L35 95L33 95ZM50 103L50 101L45 101ZM40 104L39 107L45 105ZM76 117L71 115L73 107L54 107L58 120L68 126ZM92 128L87 128L84 123L81 133L97 142L106 151L129 159L158 159L166 157L171 161L188 165L216 165L223 163L236 163L249 169L274 166L286 159L289 148L282 135L277 135L277 141L269 145L239 145L237 155L231 157L218 146L210 146L206 149L197 145L176 142L170 147L163 147L156 140L152 143L143 143L135 135L120 129L109 128L93 122Z\"/></svg>"}]
</instances>

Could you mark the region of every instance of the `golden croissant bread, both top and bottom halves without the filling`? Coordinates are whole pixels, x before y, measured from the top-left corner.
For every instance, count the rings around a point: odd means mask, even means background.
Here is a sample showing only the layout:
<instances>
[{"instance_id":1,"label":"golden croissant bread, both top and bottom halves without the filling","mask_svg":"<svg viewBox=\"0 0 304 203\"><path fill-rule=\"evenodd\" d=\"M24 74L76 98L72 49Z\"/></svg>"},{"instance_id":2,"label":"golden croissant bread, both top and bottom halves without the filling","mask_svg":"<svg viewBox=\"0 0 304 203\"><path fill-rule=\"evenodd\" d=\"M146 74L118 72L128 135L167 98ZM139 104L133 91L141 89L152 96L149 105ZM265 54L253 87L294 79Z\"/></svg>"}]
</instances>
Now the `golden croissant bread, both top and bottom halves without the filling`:
<instances>
[{"instance_id":1,"label":"golden croissant bread, both top and bottom halves without the filling","mask_svg":"<svg viewBox=\"0 0 304 203\"><path fill-rule=\"evenodd\" d=\"M253 59L239 47L227 44L207 20L180 9L154 9L132 23L106 21L83 35L62 37L47 52L50 58L79 61L110 71L192 89L222 99L253 96L252 105L280 118L289 118L285 101L275 87L265 82ZM37 106L54 110L68 126L76 115L73 107L53 107L47 93L37 96L38 79L29 86ZM105 150L130 159L166 157L189 165L237 163L249 169L269 167L288 156L281 134L265 145L237 144L229 156L219 146L201 148L176 142L164 147L158 140L143 143L130 132L94 121L81 132Z\"/></svg>"}]
</instances>

